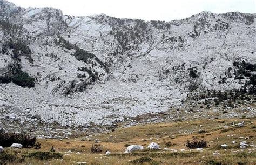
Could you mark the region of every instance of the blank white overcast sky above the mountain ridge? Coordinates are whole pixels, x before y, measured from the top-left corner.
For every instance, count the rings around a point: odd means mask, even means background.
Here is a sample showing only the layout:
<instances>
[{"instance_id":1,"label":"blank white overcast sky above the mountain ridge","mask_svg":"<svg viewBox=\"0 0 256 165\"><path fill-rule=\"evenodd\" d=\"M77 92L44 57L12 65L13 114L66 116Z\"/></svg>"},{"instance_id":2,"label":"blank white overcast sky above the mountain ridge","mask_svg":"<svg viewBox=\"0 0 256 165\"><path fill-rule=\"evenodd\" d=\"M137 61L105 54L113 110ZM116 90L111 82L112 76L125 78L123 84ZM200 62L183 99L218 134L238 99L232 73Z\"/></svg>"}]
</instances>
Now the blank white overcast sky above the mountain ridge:
<instances>
[{"instance_id":1,"label":"blank white overcast sky above the mountain ridge","mask_svg":"<svg viewBox=\"0 0 256 165\"><path fill-rule=\"evenodd\" d=\"M116 18L174 20L201 11L256 13L256 0L8 0L17 6L53 7L65 15L90 16L100 13Z\"/></svg>"}]
</instances>

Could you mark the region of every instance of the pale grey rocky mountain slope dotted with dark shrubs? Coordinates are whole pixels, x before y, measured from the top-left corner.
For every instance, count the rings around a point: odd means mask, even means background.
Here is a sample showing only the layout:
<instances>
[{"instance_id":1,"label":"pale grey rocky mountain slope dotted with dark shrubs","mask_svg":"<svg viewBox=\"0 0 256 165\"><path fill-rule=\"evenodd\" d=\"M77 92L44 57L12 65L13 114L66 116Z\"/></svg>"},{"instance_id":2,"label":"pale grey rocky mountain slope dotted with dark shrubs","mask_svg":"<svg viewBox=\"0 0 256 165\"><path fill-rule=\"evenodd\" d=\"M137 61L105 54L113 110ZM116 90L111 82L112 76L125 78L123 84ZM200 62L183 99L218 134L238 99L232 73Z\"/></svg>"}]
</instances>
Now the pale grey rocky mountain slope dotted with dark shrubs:
<instances>
[{"instance_id":1,"label":"pale grey rocky mountain slope dotted with dark shrubs","mask_svg":"<svg viewBox=\"0 0 256 165\"><path fill-rule=\"evenodd\" d=\"M255 14L145 22L0 4L0 118L10 128L112 125L201 91L255 94Z\"/></svg>"}]
</instances>

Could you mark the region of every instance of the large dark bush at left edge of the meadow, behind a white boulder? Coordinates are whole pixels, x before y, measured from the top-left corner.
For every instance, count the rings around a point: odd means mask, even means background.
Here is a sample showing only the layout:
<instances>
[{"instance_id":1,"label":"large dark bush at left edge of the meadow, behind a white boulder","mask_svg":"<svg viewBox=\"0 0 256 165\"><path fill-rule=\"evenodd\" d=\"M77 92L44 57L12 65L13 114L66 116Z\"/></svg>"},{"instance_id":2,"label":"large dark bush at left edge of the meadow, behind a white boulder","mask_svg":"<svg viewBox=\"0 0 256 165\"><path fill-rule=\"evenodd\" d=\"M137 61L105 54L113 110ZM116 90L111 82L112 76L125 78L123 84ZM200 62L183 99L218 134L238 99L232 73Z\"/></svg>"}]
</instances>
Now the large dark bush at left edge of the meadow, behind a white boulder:
<instances>
[{"instance_id":1,"label":"large dark bush at left edge of the meadow, behind a white boulder","mask_svg":"<svg viewBox=\"0 0 256 165\"><path fill-rule=\"evenodd\" d=\"M0 130L0 146L10 147L13 143L20 143L24 148L31 148L36 145L36 137L25 133L6 133Z\"/></svg>"}]
</instances>

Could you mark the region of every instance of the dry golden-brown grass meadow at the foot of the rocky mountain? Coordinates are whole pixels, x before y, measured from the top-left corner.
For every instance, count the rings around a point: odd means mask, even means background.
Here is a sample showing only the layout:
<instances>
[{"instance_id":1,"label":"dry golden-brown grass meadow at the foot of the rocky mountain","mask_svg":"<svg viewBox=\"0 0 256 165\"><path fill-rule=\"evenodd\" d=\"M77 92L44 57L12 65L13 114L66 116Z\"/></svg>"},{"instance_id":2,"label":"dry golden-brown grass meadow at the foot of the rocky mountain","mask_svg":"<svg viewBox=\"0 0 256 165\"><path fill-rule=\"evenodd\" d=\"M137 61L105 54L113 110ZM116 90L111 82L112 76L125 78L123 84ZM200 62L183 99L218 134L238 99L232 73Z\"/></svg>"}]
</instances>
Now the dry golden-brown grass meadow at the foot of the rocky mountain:
<instances>
[{"instance_id":1,"label":"dry golden-brown grass meadow at the foot of the rocky mountain","mask_svg":"<svg viewBox=\"0 0 256 165\"><path fill-rule=\"evenodd\" d=\"M256 163L255 151L245 152L238 155L234 150L239 150L237 144L232 144L232 141L237 142L247 141L256 145L256 128L255 118L252 119L211 119L211 120L195 120L171 123L159 123L150 125L138 125L129 128L118 128L114 132L103 133L99 135L80 137L76 139L39 139L41 142L42 151L49 151L51 146L54 146L57 152L65 155L63 160L48 160L38 161L35 159L25 159L25 163L31 164L76 164L77 162L87 162L87 164L131 164L130 161L140 157L150 157L152 162L144 164L214 164L221 162L223 164L238 164L238 163ZM244 127L232 126L232 123L245 121ZM200 125L202 125L200 127ZM228 126L228 127L226 127ZM198 133L199 130L206 130L205 133ZM244 138L240 138L244 137ZM250 137L250 138L249 138ZM153 140L150 140L152 138ZM204 139L210 145L203 152L189 151L184 144L187 139L193 138ZM249 138L246 139L245 138ZM85 141L81 141L85 139ZM97 143L102 146L103 152L94 154L91 152L91 146L95 144L94 140L98 139ZM69 142L68 144L66 142ZM126 144L143 145L147 147L150 142L158 142L161 148L184 148L186 152L171 153L169 151L160 150L159 152L152 150L144 150L143 152L133 154L122 154ZM209 143L211 142L211 143ZM220 149L220 157L213 157L215 150L219 149L219 145L227 143L230 146L226 151ZM171 144L171 145L170 145ZM84 146L84 147L82 147ZM10 149L8 149L10 150ZM68 150L73 150L74 153L65 153ZM112 155L105 156L106 150L110 150ZM18 153L26 154L34 152L33 149L16 150ZM13 149L11 152L14 152ZM80 152L82 154L76 154ZM17 163L16 163L17 164ZM24 163L21 163L24 164Z\"/></svg>"}]
</instances>

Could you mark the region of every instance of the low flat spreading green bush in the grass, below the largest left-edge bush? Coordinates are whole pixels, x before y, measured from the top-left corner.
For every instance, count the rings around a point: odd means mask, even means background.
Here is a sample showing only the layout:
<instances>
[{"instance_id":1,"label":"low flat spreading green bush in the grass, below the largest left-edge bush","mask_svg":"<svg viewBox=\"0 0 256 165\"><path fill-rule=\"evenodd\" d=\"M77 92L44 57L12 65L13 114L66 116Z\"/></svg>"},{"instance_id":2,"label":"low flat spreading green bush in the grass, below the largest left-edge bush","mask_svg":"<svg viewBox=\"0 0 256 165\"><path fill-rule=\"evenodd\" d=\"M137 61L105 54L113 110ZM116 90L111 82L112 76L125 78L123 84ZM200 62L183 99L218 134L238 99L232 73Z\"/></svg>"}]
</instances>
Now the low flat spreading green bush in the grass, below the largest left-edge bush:
<instances>
[{"instance_id":1,"label":"low flat spreading green bush in the grass, below the largest left-edge bush","mask_svg":"<svg viewBox=\"0 0 256 165\"><path fill-rule=\"evenodd\" d=\"M63 155L60 153L53 153L53 152L33 152L33 153L29 153L26 157L30 157L38 160L49 160L49 159L62 159Z\"/></svg>"}]
</instances>

